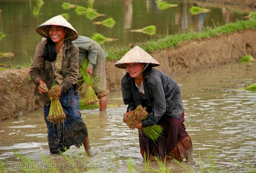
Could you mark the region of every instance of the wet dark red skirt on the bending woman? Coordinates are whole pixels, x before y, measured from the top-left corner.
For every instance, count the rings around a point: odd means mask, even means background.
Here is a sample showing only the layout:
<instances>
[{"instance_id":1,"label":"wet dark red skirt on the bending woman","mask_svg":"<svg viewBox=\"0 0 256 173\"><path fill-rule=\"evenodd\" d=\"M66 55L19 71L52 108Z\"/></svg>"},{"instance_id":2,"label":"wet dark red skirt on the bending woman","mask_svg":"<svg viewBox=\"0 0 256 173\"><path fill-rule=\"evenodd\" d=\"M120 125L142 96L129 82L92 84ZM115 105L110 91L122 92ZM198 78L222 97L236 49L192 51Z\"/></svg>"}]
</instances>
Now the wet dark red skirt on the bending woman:
<instances>
[{"instance_id":1,"label":"wet dark red skirt on the bending woman","mask_svg":"<svg viewBox=\"0 0 256 173\"><path fill-rule=\"evenodd\" d=\"M146 158L151 156L151 159L154 160L153 156L160 156L166 160L174 158L182 162L183 158L186 158L192 153L192 142L186 132L184 122L184 112L180 119L164 115L159 120L158 123L161 125L164 130L162 136L158 138L158 141L154 143L144 135L143 129L139 130L139 144L140 152L144 158L144 153Z\"/></svg>"}]
</instances>

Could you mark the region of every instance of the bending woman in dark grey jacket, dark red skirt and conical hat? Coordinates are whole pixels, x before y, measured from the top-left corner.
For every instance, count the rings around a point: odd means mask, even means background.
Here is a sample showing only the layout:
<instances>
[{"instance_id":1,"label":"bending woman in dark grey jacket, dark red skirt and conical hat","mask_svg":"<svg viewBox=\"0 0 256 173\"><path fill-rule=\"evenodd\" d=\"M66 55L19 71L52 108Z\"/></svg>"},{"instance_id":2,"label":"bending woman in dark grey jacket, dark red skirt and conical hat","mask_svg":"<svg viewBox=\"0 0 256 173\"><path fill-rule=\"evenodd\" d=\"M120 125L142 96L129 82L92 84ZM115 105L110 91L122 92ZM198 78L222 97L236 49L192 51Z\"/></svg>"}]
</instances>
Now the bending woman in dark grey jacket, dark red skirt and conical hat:
<instances>
[{"instance_id":1,"label":"bending woman in dark grey jacket, dark red skirt and conical hat","mask_svg":"<svg viewBox=\"0 0 256 173\"><path fill-rule=\"evenodd\" d=\"M186 158L187 162L193 164L192 143L183 124L184 108L177 83L165 73L152 68L159 66L159 63L139 46L128 51L115 66L127 71L121 81L123 101L128 105L123 121L139 105L146 107L150 113L137 125L142 157L144 153L144 159L151 156L152 160L152 156L162 159L169 156L166 159L174 158L181 162ZM144 135L142 129L154 124L164 129L156 142Z\"/></svg>"}]
</instances>

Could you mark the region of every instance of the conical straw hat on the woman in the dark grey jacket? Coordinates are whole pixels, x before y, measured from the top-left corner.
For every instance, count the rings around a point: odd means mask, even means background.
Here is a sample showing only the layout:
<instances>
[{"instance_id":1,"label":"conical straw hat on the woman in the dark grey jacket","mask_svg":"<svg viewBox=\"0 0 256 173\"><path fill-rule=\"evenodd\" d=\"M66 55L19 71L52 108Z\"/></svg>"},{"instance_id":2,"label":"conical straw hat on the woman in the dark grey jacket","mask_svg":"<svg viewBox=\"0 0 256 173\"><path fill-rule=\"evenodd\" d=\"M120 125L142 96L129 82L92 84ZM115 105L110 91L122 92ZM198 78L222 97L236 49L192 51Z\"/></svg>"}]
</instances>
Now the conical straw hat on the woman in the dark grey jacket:
<instances>
[{"instance_id":1,"label":"conical straw hat on the woman in the dark grey jacket","mask_svg":"<svg viewBox=\"0 0 256 173\"><path fill-rule=\"evenodd\" d=\"M135 46L129 50L119 61L115 63L115 66L117 68L126 68L126 63L151 63L152 67L160 65L152 56L139 46Z\"/></svg>"}]
</instances>

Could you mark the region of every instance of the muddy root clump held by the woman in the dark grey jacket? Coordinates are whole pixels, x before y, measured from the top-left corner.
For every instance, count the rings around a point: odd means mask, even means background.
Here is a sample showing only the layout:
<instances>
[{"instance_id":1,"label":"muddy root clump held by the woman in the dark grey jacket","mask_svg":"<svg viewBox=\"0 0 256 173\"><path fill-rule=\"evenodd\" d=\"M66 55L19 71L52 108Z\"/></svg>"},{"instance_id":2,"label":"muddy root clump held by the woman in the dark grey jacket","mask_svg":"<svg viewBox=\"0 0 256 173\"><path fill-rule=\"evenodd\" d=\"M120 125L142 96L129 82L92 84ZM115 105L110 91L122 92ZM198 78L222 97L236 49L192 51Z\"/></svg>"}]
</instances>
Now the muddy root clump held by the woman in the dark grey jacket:
<instances>
[{"instance_id":1,"label":"muddy root clump held by the woman in the dark grey jacket","mask_svg":"<svg viewBox=\"0 0 256 173\"><path fill-rule=\"evenodd\" d=\"M146 112L146 108L139 105L133 113L129 115L127 118L126 124L130 129L135 129L138 125L138 122L142 121L142 119L146 119L148 116L148 112Z\"/></svg>"}]
</instances>

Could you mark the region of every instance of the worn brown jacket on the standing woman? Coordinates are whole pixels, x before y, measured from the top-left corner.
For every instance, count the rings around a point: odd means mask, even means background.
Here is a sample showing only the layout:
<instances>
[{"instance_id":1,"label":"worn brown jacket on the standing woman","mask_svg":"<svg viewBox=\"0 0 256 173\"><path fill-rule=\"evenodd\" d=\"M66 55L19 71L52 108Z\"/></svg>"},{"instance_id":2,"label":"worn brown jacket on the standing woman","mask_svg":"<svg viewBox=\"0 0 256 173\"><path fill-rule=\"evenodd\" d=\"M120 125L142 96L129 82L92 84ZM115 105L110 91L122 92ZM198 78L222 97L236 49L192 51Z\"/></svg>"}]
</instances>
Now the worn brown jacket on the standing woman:
<instances>
[{"instance_id":1,"label":"worn brown jacket on the standing woman","mask_svg":"<svg viewBox=\"0 0 256 173\"><path fill-rule=\"evenodd\" d=\"M48 94L39 94L38 83L39 80L43 80L47 88L50 89L54 79L54 61L50 62L44 60L44 48L47 40L38 43L36 47L36 53L33 58L32 65L30 67L30 77L35 83L34 95L37 99L44 102L45 105L49 105ZM62 74L65 77L64 81L60 84L62 92L74 87L75 92L79 91L79 85L76 83L78 78L78 47L72 43L70 40L65 40L65 51L62 60Z\"/></svg>"}]
</instances>

